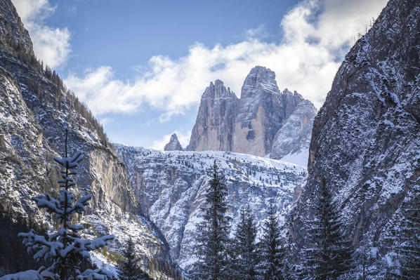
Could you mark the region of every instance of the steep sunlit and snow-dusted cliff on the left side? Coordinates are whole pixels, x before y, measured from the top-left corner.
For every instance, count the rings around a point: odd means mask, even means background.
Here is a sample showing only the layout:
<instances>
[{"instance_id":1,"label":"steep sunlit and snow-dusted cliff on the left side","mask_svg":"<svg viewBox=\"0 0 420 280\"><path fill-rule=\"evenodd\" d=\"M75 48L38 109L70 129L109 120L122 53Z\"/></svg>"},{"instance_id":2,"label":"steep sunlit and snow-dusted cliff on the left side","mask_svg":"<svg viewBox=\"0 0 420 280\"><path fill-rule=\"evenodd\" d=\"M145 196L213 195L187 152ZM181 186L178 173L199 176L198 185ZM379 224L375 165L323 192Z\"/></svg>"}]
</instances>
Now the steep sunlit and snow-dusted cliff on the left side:
<instances>
[{"instance_id":1,"label":"steep sunlit and snow-dusted cliff on the left side","mask_svg":"<svg viewBox=\"0 0 420 280\"><path fill-rule=\"evenodd\" d=\"M93 194L82 220L84 233L115 234L117 240L110 248L118 251L129 232L138 239L137 250L145 264L153 258L171 262L159 229L138 215L126 168L98 121L64 90L55 72L43 69L34 58L31 40L11 1L0 3L0 212L15 222L32 219L54 225L30 197L58 193L59 168L53 156L63 153L63 131L68 127L70 153L84 154L74 192Z\"/></svg>"}]
</instances>

